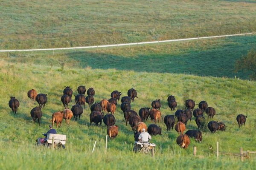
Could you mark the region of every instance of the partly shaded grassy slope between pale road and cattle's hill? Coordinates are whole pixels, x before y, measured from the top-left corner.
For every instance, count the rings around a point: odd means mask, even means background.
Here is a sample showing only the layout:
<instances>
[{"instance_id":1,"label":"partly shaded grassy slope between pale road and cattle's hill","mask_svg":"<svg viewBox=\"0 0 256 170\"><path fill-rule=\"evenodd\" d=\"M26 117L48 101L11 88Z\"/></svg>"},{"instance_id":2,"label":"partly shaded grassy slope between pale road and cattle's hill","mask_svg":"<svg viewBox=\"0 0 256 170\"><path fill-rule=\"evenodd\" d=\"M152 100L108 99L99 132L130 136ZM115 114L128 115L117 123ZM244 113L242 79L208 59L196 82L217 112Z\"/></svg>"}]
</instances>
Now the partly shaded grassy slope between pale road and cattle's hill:
<instances>
[{"instance_id":1,"label":"partly shaded grassy slope between pale road and cattle's hill","mask_svg":"<svg viewBox=\"0 0 256 170\"><path fill-rule=\"evenodd\" d=\"M166 44L139 45L68 51L0 53L7 61L136 72L182 73L199 76L247 79L250 72L234 72L236 59L256 47L256 36L193 40Z\"/></svg>"}]
</instances>

